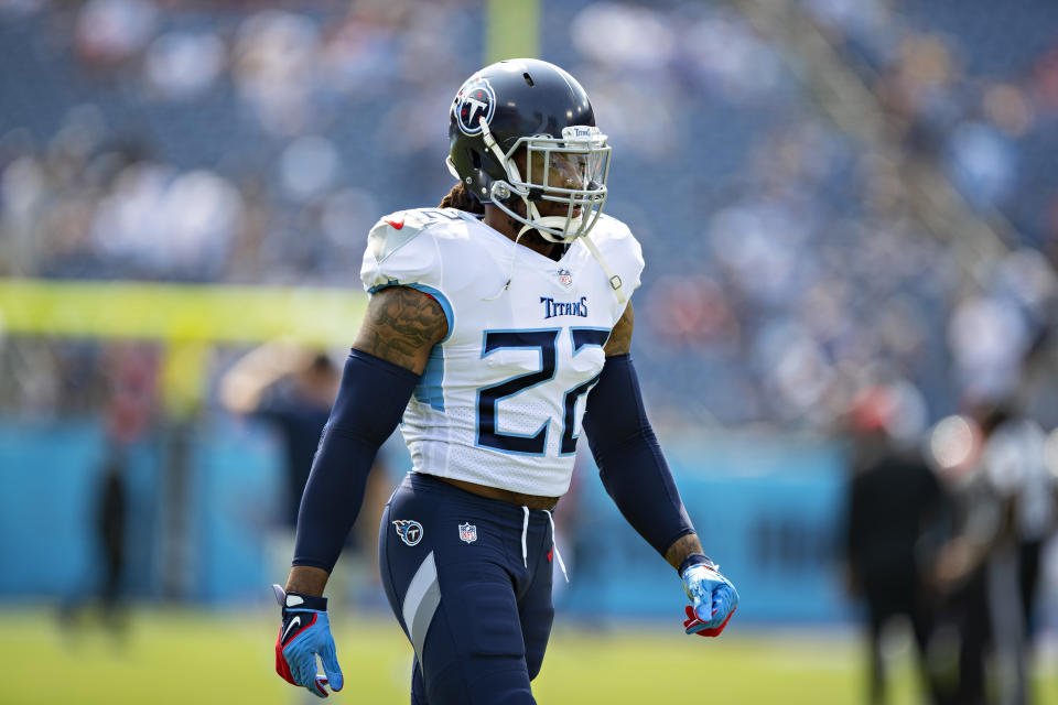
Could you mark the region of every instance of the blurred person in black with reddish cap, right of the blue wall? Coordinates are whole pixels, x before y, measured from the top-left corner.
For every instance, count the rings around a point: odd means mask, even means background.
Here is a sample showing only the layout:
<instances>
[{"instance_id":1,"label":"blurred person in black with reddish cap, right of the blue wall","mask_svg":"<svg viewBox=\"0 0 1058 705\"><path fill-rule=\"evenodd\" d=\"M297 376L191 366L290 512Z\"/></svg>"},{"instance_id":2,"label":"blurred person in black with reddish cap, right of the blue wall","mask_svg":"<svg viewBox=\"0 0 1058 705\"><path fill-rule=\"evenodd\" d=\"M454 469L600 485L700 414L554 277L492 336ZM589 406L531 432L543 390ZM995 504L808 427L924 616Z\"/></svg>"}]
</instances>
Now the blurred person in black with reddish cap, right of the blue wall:
<instances>
[{"instance_id":1,"label":"blurred person in black with reddish cap, right of the blue wall","mask_svg":"<svg viewBox=\"0 0 1058 705\"><path fill-rule=\"evenodd\" d=\"M924 555L944 501L937 477L917 445L900 434L914 415L909 386L872 386L857 394L848 423L853 463L846 518L848 585L867 608L867 702L886 702L885 637L898 617L910 622L922 685L938 702L928 664L936 596L928 587ZM903 392L903 393L902 393ZM902 437L903 435L903 437Z\"/></svg>"}]
</instances>

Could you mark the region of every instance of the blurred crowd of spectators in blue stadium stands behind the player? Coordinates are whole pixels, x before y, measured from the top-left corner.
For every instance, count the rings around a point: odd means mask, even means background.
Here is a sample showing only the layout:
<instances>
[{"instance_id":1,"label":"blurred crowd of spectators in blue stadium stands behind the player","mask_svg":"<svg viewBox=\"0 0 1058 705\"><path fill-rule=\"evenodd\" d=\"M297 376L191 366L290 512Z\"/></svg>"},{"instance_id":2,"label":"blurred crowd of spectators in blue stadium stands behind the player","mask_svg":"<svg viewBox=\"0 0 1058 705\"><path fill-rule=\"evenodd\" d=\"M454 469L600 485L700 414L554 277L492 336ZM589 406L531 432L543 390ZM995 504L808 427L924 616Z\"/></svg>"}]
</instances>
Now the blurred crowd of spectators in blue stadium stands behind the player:
<instances>
[{"instance_id":1,"label":"blurred crowd of spectators in blue stadium stands behind the player","mask_svg":"<svg viewBox=\"0 0 1058 705\"><path fill-rule=\"evenodd\" d=\"M1055 10L794 7L870 88L894 152L839 129L802 58L727 4L543 3L541 55L592 95L607 210L644 245L658 425L828 433L895 381L919 431L1019 393L1058 425L1052 376L1026 383L1055 346L1058 23L1038 19ZM447 106L484 25L471 0L0 1L0 275L358 289L370 225L449 189ZM958 265L970 246L909 205L908 154L1008 221L1008 251ZM41 391L56 372L90 387L91 352L25 352L41 345L7 340L0 406L68 411L77 394Z\"/></svg>"}]
</instances>

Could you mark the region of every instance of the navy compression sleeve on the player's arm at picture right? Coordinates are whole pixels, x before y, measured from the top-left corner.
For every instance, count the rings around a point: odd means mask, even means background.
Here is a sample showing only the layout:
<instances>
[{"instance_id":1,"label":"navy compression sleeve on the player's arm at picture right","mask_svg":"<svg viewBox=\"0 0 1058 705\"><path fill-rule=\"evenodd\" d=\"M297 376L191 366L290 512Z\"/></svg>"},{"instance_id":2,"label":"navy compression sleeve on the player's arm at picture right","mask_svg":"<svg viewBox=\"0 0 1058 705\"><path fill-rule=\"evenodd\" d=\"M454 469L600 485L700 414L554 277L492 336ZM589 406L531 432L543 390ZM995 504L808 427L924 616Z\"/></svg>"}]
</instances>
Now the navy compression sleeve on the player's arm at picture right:
<instances>
[{"instance_id":1,"label":"navy compression sleeve on the player's arm at picture right","mask_svg":"<svg viewBox=\"0 0 1058 705\"><path fill-rule=\"evenodd\" d=\"M663 556L677 539L694 532L644 411L630 355L606 358L587 395L584 431L603 486L655 551Z\"/></svg>"}]
</instances>

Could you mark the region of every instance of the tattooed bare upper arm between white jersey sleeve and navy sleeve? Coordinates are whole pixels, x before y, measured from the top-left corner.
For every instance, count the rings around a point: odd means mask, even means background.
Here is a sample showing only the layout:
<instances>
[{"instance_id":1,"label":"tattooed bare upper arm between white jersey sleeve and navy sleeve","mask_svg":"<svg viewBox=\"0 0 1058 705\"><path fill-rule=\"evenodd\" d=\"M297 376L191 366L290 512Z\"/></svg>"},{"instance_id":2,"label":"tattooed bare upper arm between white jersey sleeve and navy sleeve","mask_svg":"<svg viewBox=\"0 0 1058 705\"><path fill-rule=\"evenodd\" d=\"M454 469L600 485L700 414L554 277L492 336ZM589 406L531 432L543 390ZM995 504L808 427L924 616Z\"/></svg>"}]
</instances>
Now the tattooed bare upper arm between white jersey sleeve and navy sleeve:
<instances>
[{"instance_id":1,"label":"tattooed bare upper arm between white jersey sleeve and navy sleeve","mask_svg":"<svg viewBox=\"0 0 1058 705\"><path fill-rule=\"evenodd\" d=\"M441 305L407 286L391 286L371 296L353 347L420 373L430 349L449 330Z\"/></svg>"}]
</instances>

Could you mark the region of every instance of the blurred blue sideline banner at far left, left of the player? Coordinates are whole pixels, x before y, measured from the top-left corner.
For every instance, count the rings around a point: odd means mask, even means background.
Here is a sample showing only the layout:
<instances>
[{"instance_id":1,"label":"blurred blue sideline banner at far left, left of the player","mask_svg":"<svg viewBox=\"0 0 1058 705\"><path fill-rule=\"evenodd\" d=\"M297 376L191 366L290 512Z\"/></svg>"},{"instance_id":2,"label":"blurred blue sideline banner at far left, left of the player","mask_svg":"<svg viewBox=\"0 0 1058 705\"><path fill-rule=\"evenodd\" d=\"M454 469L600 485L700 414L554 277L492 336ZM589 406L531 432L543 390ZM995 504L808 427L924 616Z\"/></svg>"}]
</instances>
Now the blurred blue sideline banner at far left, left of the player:
<instances>
[{"instance_id":1,"label":"blurred blue sideline banner at far left, left of the player","mask_svg":"<svg viewBox=\"0 0 1058 705\"><path fill-rule=\"evenodd\" d=\"M262 427L227 419L191 432L162 429L120 458L98 421L0 422L8 488L0 500L0 561L8 566L0 594L76 603L99 589L112 525L105 478L117 466L125 590L253 601L271 577L267 539L279 522L279 458ZM179 467L165 471L174 460ZM172 575L177 585L169 584Z\"/></svg>"}]
</instances>

